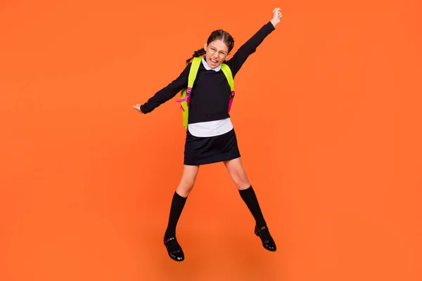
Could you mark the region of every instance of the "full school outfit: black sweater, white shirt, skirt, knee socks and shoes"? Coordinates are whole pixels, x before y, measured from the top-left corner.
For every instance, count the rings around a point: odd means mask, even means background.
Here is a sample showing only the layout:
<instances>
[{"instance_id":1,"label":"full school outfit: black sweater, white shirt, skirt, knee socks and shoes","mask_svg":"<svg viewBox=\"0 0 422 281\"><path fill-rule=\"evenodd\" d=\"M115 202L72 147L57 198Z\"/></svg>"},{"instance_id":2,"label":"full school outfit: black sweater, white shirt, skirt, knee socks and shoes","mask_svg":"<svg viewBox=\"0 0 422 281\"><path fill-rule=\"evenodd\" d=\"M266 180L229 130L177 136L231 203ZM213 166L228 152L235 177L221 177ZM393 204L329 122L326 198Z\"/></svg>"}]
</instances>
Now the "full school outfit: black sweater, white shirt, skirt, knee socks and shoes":
<instances>
[{"instance_id":1,"label":"full school outfit: black sweater, white shirt, skirt, knee socks and shoes","mask_svg":"<svg viewBox=\"0 0 422 281\"><path fill-rule=\"evenodd\" d=\"M256 48L273 30L275 30L274 25L268 22L238 48L238 51L230 60L224 61L230 67L233 77L236 77L249 55L255 53ZM186 88L191 65L191 63L188 63L177 79L174 79L141 105L141 112L146 114L153 111ZM229 115L230 96L231 89L221 67L212 69L203 58L191 90L184 164L211 164L241 156L236 133ZM254 233L260 237L262 246L268 251L276 251L276 244L269 233L267 222L264 219L252 185L239 190L239 194L255 218ZM174 261L184 261L184 251L176 238L176 227L186 200L187 197L183 197L177 191L174 191L169 221L163 239L167 253Z\"/></svg>"}]
</instances>

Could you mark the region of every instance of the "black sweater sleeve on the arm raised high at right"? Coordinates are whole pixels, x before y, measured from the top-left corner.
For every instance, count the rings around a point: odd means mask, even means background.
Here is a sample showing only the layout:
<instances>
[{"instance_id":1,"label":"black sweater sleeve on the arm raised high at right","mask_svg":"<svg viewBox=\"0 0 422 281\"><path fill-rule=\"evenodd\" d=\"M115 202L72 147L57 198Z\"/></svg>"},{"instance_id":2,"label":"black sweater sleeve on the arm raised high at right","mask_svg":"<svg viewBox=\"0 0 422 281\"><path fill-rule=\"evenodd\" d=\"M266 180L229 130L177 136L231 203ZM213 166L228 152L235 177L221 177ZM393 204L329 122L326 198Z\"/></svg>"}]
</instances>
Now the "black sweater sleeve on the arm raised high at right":
<instances>
[{"instance_id":1,"label":"black sweater sleeve on the arm raised high at right","mask_svg":"<svg viewBox=\"0 0 422 281\"><path fill-rule=\"evenodd\" d=\"M267 37L271 32L275 30L274 25L271 22L267 22L266 25L262 26L248 41L245 42L238 51L233 55L230 60L226 61L226 64L229 65L233 77L241 69L243 63L248 59L249 55L255 53L256 49L265 37Z\"/></svg>"}]
</instances>

